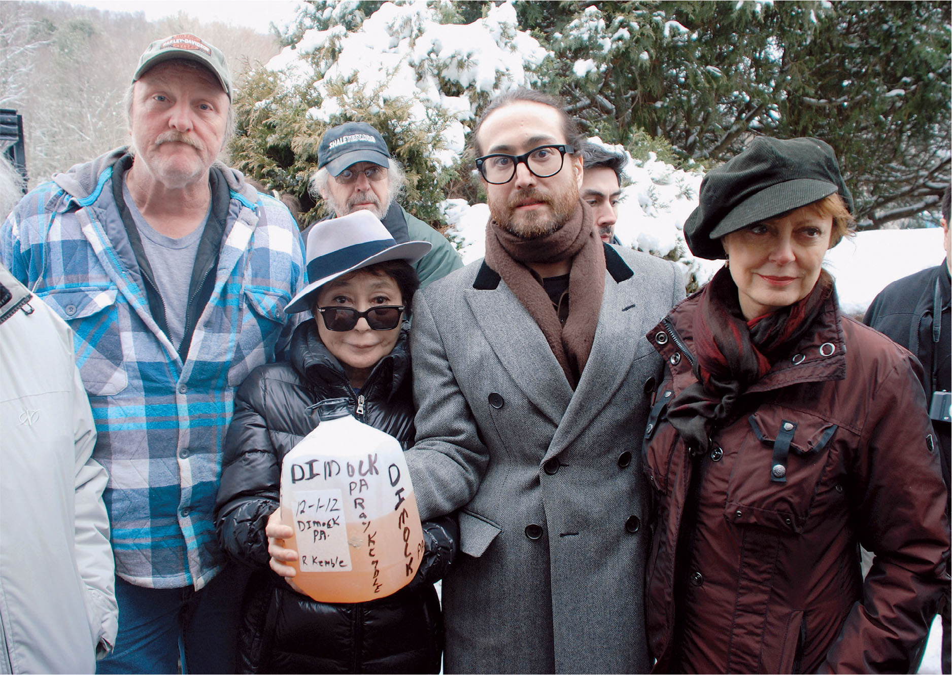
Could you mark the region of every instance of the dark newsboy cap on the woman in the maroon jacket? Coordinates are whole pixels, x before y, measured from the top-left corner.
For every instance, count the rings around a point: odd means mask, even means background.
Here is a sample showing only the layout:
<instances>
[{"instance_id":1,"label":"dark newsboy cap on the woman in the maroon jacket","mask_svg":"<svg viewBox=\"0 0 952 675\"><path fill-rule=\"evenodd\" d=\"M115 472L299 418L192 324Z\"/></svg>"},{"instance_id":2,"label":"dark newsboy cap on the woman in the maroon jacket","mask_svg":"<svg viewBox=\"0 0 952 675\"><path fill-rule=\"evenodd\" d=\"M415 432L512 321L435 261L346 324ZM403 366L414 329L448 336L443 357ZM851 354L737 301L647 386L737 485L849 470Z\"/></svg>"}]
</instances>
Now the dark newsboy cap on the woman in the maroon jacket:
<instances>
[{"instance_id":1,"label":"dark newsboy cap on the woman in the maroon jacket","mask_svg":"<svg viewBox=\"0 0 952 675\"><path fill-rule=\"evenodd\" d=\"M699 258L724 258L725 234L776 218L839 192L849 212L850 194L833 149L817 138L758 136L739 155L701 182L698 208L684 223L687 247Z\"/></svg>"}]
</instances>

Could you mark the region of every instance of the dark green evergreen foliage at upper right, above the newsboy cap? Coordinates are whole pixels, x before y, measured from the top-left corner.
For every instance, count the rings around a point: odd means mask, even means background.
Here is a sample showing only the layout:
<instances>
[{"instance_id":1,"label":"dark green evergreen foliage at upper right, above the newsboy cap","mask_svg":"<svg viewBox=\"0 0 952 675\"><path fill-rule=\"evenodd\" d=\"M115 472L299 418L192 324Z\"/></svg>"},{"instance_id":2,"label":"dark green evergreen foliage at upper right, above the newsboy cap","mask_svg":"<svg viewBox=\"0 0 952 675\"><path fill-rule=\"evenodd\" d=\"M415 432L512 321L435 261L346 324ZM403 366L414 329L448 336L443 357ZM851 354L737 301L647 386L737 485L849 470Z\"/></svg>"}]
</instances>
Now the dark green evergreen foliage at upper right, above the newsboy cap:
<instances>
[{"instance_id":1,"label":"dark green evergreen foliage at upper right, above the newsboy cap","mask_svg":"<svg viewBox=\"0 0 952 675\"><path fill-rule=\"evenodd\" d=\"M948 185L947 2L521 5L557 54L549 86L606 142L647 133L716 165L755 133L822 138L876 225Z\"/></svg>"}]
</instances>

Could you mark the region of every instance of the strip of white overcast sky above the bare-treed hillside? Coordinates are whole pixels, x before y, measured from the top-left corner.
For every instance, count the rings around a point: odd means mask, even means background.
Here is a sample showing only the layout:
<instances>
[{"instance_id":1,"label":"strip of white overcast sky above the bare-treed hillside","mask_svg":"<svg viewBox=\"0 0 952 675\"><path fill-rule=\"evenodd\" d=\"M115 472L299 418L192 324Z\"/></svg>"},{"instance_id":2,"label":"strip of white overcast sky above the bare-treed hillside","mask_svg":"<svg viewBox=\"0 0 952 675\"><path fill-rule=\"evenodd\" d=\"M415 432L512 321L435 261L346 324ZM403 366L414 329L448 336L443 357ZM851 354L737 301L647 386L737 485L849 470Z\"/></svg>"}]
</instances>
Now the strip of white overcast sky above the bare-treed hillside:
<instances>
[{"instance_id":1,"label":"strip of white overcast sky above the bare-treed hillside","mask_svg":"<svg viewBox=\"0 0 952 675\"><path fill-rule=\"evenodd\" d=\"M72 5L94 7L109 11L142 11L146 19L154 21L174 16L179 11L201 22L220 21L235 26L246 26L268 33L268 24L279 28L294 18L297 0L69 0Z\"/></svg>"}]
</instances>

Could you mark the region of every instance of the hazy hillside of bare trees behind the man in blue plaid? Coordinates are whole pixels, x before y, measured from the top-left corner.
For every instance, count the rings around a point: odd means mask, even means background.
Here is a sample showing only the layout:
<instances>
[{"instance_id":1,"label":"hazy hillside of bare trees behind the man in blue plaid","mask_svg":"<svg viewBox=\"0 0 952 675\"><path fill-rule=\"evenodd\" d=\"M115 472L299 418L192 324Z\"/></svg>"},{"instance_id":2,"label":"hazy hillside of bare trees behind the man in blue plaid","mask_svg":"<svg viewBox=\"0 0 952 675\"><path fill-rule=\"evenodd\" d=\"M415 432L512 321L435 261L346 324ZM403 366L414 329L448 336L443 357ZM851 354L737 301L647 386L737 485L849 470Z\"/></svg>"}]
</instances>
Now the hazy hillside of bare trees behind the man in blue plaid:
<instances>
[{"instance_id":1,"label":"hazy hillside of bare trees behind the man in blue plaid","mask_svg":"<svg viewBox=\"0 0 952 675\"><path fill-rule=\"evenodd\" d=\"M128 142L123 99L136 59L176 32L225 51L239 86L249 66L280 49L276 36L203 25L184 13L149 22L141 11L0 2L0 101L23 114L31 187Z\"/></svg>"}]
</instances>

